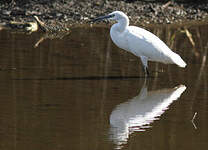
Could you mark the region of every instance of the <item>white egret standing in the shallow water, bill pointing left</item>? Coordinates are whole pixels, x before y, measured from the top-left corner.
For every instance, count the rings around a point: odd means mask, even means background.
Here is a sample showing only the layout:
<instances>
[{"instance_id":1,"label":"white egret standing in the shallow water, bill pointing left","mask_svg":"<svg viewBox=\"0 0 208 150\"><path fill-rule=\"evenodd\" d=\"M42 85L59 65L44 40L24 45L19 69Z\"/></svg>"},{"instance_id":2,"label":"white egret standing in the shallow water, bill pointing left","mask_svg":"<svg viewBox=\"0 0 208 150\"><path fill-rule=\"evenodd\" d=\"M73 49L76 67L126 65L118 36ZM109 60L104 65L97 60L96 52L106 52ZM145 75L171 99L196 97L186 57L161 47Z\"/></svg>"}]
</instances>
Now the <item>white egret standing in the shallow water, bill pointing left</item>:
<instances>
[{"instance_id":1,"label":"white egret standing in the shallow water, bill pointing left","mask_svg":"<svg viewBox=\"0 0 208 150\"><path fill-rule=\"evenodd\" d=\"M114 11L107 16L101 16L92 22L112 19L116 20L110 29L112 41L121 49L129 51L141 58L145 75L149 75L148 60L165 64L176 64L185 67L183 59L173 51L156 35L136 26L129 26L129 18L121 11Z\"/></svg>"}]
</instances>

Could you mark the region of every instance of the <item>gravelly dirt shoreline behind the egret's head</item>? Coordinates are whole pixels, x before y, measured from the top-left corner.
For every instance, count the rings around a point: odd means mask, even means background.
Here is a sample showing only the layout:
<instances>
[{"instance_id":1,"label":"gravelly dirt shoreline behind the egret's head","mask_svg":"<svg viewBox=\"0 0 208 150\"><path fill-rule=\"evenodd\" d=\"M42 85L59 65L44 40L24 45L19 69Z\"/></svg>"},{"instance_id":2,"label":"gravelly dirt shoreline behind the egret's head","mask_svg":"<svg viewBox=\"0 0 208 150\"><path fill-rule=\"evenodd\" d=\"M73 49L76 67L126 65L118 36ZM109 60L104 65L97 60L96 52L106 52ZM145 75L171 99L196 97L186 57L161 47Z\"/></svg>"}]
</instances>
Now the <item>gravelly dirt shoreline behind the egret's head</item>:
<instances>
[{"instance_id":1,"label":"gravelly dirt shoreline behind the egret's head","mask_svg":"<svg viewBox=\"0 0 208 150\"><path fill-rule=\"evenodd\" d=\"M42 21L55 24L85 24L114 10L125 12L131 24L170 24L193 20L207 21L208 3L153 3L122 0L31 0L30 3L0 2L0 23Z\"/></svg>"}]
</instances>

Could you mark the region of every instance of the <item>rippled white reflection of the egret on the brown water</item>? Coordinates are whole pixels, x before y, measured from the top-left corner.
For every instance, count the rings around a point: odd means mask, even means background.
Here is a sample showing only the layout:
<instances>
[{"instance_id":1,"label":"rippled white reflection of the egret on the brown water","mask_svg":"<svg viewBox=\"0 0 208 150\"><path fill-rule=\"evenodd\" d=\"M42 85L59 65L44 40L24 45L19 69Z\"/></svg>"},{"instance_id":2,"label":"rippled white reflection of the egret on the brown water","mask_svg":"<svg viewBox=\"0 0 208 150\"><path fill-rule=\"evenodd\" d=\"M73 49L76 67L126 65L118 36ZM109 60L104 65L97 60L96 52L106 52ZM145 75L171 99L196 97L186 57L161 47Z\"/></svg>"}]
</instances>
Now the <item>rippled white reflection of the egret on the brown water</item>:
<instances>
[{"instance_id":1,"label":"rippled white reflection of the egret on the brown water","mask_svg":"<svg viewBox=\"0 0 208 150\"><path fill-rule=\"evenodd\" d=\"M121 148L135 131L144 131L185 91L184 85L171 89L147 91L144 83L138 96L118 105L110 115L110 139Z\"/></svg>"}]
</instances>

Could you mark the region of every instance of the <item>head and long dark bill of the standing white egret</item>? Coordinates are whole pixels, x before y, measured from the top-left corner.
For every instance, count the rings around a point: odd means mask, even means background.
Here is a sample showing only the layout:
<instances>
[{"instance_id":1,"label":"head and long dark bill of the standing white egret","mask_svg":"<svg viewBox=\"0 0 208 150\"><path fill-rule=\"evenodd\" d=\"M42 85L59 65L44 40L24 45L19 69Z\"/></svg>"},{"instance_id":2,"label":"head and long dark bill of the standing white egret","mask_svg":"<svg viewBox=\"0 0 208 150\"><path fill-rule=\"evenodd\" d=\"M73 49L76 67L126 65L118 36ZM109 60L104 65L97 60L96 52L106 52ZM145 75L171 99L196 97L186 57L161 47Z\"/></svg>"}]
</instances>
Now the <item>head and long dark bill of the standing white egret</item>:
<instances>
[{"instance_id":1,"label":"head and long dark bill of the standing white egret","mask_svg":"<svg viewBox=\"0 0 208 150\"><path fill-rule=\"evenodd\" d=\"M92 22L96 22L104 19L116 20L117 22L119 22L120 20L129 20L127 15L124 14L122 11L114 11L106 16L95 18L92 20Z\"/></svg>"}]
</instances>

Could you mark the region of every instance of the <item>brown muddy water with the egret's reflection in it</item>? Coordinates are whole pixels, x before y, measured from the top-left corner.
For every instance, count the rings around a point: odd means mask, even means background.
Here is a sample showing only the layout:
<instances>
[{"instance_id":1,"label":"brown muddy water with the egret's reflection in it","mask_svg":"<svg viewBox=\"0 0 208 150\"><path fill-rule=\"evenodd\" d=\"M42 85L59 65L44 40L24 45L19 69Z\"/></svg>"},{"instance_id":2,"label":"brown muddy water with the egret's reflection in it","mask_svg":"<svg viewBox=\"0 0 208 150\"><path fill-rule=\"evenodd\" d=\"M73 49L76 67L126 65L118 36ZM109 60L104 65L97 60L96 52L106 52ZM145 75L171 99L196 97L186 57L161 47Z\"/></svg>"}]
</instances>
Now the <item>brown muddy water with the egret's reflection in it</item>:
<instances>
[{"instance_id":1,"label":"brown muddy water with the egret's reflection in it","mask_svg":"<svg viewBox=\"0 0 208 150\"><path fill-rule=\"evenodd\" d=\"M208 25L147 29L187 67L150 63L145 82L106 27L0 31L0 148L207 149Z\"/></svg>"}]
</instances>

